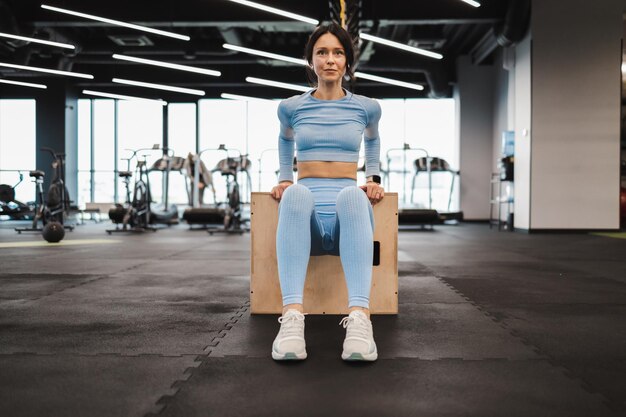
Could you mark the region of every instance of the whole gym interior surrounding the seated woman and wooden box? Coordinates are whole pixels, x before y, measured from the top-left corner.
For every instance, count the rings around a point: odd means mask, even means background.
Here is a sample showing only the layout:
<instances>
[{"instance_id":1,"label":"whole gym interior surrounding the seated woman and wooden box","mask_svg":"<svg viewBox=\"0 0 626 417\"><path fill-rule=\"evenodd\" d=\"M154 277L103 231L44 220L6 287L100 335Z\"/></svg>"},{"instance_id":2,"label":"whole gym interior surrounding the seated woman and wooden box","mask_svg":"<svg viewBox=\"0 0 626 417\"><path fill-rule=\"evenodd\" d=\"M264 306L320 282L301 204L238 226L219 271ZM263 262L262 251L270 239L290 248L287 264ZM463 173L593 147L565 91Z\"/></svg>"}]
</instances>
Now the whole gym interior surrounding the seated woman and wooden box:
<instances>
[{"instance_id":1,"label":"whole gym interior surrounding the seated woman and wooden box","mask_svg":"<svg viewBox=\"0 0 626 417\"><path fill-rule=\"evenodd\" d=\"M399 313L373 318L365 367L330 315L277 365L276 316L250 314L250 194L276 180L277 105L307 88L285 57L315 23L243 3L0 0L7 415L626 415L626 2L260 2L343 19L354 91L382 106ZM188 157L213 173L202 203Z\"/></svg>"}]
</instances>

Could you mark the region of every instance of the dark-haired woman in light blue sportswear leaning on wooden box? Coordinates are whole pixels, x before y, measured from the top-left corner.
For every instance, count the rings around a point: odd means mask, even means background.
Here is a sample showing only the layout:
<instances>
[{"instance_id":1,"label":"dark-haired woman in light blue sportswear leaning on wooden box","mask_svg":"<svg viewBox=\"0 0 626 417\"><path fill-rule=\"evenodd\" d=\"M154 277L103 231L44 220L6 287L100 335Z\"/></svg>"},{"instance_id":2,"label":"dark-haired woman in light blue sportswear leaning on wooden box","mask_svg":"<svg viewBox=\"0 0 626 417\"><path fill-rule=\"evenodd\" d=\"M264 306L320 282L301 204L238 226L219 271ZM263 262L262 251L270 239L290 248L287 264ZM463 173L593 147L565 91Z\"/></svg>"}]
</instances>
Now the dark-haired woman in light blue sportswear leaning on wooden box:
<instances>
[{"instance_id":1,"label":"dark-haired woman in light blue sportswear leaning on wooden box","mask_svg":"<svg viewBox=\"0 0 626 417\"><path fill-rule=\"evenodd\" d=\"M280 331L272 345L275 360L305 359L302 295L310 255L339 255L348 287L350 314L343 360L378 357L369 319L372 280L372 205L384 197L380 186L380 105L342 88L352 79L354 50L340 26L320 26L309 38L305 57L316 88L283 100L280 120L280 201L276 252L283 294ZM310 74L312 75L312 74ZM364 138L367 183L356 186ZM294 145L298 149L298 184L293 184Z\"/></svg>"}]
</instances>

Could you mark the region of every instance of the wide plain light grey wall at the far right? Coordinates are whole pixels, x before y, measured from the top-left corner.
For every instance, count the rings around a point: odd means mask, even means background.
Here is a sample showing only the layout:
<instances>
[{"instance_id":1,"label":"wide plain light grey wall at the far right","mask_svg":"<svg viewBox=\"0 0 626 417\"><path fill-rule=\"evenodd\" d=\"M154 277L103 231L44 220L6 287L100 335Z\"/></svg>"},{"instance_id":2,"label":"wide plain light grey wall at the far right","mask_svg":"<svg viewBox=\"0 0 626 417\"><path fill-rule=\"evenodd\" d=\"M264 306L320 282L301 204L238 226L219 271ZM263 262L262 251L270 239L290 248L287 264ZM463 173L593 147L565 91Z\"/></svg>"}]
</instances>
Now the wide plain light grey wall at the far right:
<instances>
[{"instance_id":1,"label":"wide plain light grey wall at the far right","mask_svg":"<svg viewBox=\"0 0 626 417\"><path fill-rule=\"evenodd\" d=\"M622 0L563 7L533 3L531 228L619 228Z\"/></svg>"}]
</instances>

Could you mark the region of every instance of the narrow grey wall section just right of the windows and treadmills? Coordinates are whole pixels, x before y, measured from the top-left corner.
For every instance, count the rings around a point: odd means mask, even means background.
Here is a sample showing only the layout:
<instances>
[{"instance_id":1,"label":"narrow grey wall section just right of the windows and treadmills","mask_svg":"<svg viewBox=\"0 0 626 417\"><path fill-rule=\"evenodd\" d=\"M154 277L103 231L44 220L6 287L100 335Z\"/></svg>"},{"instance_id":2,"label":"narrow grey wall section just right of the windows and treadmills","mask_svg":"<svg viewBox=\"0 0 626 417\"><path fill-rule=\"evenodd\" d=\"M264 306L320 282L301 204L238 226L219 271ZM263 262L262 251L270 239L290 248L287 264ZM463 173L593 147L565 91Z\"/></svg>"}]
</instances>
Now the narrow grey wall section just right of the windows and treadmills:
<instances>
[{"instance_id":1,"label":"narrow grey wall section just right of the windows and treadmills","mask_svg":"<svg viewBox=\"0 0 626 417\"><path fill-rule=\"evenodd\" d=\"M486 220L493 164L494 71L492 66L472 65L464 56L457 61L457 74L461 210L467 220Z\"/></svg>"}]
</instances>

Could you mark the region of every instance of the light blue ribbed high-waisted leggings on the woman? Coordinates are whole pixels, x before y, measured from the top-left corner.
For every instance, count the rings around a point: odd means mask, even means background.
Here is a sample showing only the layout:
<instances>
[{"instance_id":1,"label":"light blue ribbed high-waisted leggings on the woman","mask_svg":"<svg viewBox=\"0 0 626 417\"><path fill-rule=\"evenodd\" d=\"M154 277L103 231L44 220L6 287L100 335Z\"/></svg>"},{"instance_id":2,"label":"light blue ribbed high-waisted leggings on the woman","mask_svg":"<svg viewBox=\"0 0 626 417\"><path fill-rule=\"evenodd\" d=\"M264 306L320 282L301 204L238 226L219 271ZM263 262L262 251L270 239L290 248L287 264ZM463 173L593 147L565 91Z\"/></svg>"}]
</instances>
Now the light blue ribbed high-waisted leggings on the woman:
<instances>
[{"instance_id":1,"label":"light blue ribbed high-waisted leggings on the woman","mask_svg":"<svg viewBox=\"0 0 626 417\"><path fill-rule=\"evenodd\" d=\"M283 305L302 304L309 256L339 255L348 306L369 308L374 214L351 179L303 178L281 199L276 232Z\"/></svg>"}]
</instances>

